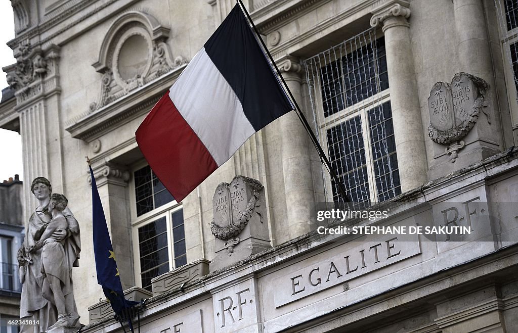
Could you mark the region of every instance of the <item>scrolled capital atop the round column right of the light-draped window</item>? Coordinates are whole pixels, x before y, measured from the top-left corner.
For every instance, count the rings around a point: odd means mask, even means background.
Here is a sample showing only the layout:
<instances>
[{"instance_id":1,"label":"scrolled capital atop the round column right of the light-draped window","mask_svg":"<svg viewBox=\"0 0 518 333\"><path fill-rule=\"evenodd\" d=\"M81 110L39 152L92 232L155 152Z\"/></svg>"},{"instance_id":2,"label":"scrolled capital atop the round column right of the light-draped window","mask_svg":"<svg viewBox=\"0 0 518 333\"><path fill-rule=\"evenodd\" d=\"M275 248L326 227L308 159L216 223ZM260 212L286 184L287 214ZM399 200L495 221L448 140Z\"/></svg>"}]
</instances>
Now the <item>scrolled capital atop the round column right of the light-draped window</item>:
<instances>
[{"instance_id":1,"label":"scrolled capital atop the round column right of the light-draped window","mask_svg":"<svg viewBox=\"0 0 518 333\"><path fill-rule=\"evenodd\" d=\"M376 27L383 24L383 32L389 27L404 25L409 26L410 4L406 0L391 0L375 7L370 18L370 25ZM388 20L395 18L396 20ZM388 20L388 21L386 21Z\"/></svg>"}]
</instances>

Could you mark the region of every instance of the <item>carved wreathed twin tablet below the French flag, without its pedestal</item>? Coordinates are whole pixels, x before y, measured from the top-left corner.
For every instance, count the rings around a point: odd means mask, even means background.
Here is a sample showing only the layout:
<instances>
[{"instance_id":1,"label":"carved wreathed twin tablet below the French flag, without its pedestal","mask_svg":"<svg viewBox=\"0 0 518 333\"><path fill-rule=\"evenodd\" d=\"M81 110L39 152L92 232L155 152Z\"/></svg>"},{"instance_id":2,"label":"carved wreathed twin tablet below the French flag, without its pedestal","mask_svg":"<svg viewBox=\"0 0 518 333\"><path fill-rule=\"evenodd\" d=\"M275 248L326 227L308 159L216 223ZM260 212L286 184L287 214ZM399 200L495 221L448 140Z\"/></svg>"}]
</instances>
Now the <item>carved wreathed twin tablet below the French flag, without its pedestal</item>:
<instances>
[{"instance_id":1,"label":"carved wreathed twin tablet below the French flag, without its pedestal","mask_svg":"<svg viewBox=\"0 0 518 333\"><path fill-rule=\"evenodd\" d=\"M210 231L214 237L225 241L228 255L239 244L237 237L246 228L254 214L262 217L259 192L263 186L258 181L236 176L230 184L221 183L214 192L214 220L210 222ZM262 222L262 220L261 220Z\"/></svg>"}]
</instances>

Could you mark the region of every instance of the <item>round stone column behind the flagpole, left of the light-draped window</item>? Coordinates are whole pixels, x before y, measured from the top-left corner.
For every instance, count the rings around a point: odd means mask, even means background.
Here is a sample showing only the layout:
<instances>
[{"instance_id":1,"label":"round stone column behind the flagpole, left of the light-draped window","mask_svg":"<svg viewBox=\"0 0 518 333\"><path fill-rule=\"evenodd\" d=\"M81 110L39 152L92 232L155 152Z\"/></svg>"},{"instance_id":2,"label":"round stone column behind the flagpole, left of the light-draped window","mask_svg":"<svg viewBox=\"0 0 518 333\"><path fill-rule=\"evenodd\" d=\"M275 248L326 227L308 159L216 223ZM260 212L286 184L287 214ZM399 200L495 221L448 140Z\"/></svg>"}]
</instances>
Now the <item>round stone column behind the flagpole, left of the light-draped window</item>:
<instances>
[{"instance_id":1,"label":"round stone column behind the flagpole, left of the light-draped window","mask_svg":"<svg viewBox=\"0 0 518 333\"><path fill-rule=\"evenodd\" d=\"M297 59L281 59L280 71L293 96L302 104L300 95L302 66ZM314 208L313 178L311 176L311 147L308 134L295 111L279 120L282 130L282 172L286 198L286 217L292 238L310 231L310 214Z\"/></svg>"}]
</instances>

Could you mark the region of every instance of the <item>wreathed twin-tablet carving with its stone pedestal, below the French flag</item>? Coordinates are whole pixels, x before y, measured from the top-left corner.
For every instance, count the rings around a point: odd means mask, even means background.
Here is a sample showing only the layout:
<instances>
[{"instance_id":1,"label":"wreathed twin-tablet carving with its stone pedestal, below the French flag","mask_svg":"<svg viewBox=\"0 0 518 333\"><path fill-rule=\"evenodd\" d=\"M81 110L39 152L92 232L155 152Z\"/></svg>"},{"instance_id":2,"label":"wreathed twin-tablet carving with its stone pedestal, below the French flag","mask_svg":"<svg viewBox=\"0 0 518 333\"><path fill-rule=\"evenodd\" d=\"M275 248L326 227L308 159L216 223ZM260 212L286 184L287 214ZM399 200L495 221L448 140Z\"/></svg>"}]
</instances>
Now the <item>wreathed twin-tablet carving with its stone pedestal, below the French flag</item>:
<instances>
[{"instance_id":1,"label":"wreathed twin-tablet carving with its stone pedestal, below the French flag","mask_svg":"<svg viewBox=\"0 0 518 333\"><path fill-rule=\"evenodd\" d=\"M259 181L236 176L230 184L221 183L212 204L210 231L215 237L216 256L210 263L211 271L271 247L264 187Z\"/></svg>"}]
</instances>

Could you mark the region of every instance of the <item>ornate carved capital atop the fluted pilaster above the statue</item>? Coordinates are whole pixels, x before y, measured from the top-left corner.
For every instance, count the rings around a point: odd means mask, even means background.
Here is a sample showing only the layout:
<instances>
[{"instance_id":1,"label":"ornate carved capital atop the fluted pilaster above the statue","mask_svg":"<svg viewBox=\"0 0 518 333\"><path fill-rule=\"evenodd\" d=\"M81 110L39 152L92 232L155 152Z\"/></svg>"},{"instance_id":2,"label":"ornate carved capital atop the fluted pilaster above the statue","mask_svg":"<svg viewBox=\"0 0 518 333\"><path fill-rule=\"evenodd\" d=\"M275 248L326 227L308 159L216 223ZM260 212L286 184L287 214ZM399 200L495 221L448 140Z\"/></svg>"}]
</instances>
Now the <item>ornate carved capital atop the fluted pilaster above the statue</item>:
<instances>
[{"instance_id":1,"label":"ornate carved capital atop the fluted pilaster above the statue","mask_svg":"<svg viewBox=\"0 0 518 333\"><path fill-rule=\"evenodd\" d=\"M40 96L59 92L59 47L52 45L45 51L24 42L18 49L16 64L4 67L7 83L15 88L17 106Z\"/></svg>"}]
</instances>

